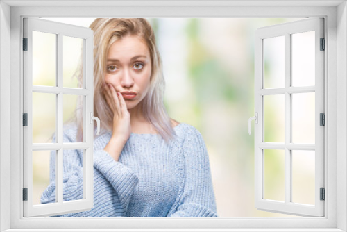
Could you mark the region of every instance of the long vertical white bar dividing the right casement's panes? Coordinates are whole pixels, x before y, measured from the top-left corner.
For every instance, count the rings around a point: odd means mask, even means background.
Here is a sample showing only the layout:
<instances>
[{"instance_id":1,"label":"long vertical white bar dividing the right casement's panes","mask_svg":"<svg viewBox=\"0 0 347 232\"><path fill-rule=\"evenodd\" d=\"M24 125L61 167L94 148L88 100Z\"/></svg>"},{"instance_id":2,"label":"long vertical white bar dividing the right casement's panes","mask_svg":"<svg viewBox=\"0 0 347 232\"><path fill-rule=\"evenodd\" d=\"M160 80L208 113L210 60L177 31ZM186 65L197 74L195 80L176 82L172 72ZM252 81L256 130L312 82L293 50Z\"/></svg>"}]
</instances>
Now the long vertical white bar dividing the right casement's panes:
<instances>
[{"instance_id":1,"label":"long vertical white bar dividing the right casement's panes","mask_svg":"<svg viewBox=\"0 0 347 232\"><path fill-rule=\"evenodd\" d=\"M289 33L285 34L285 204L291 201L291 151L288 149L291 131L291 40Z\"/></svg>"}]
</instances>

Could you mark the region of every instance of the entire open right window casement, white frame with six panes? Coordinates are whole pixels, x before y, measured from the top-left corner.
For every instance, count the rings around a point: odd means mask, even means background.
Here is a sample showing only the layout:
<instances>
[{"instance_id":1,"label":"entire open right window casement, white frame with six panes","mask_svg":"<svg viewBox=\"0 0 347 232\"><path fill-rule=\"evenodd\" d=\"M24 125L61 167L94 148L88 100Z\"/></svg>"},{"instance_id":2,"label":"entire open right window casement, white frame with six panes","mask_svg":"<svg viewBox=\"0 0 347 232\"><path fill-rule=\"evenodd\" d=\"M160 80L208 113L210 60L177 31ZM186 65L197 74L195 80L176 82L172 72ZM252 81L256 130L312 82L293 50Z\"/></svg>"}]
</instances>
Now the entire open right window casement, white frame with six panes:
<instances>
[{"instance_id":1,"label":"entire open right window casement, white frame with six panes","mask_svg":"<svg viewBox=\"0 0 347 232\"><path fill-rule=\"evenodd\" d=\"M255 31L255 208L323 216L323 19Z\"/></svg>"}]
</instances>

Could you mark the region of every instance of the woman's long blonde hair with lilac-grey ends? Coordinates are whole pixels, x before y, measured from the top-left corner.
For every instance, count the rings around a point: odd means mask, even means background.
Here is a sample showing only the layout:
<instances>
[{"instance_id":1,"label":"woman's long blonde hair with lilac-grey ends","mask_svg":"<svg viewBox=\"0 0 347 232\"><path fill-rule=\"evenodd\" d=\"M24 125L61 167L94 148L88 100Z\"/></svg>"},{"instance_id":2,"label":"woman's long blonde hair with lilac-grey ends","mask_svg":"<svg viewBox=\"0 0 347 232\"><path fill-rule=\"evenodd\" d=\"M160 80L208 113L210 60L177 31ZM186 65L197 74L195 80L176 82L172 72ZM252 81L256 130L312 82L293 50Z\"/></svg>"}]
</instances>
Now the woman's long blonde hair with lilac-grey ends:
<instances>
[{"instance_id":1,"label":"woman's long blonde hair with lilac-grey ends","mask_svg":"<svg viewBox=\"0 0 347 232\"><path fill-rule=\"evenodd\" d=\"M131 35L144 41L151 54L149 92L141 101L144 118L153 125L166 142L169 142L176 133L164 107L165 82L162 73L162 61L155 44L155 35L151 24L142 18L99 18L90 24L90 28L94 31L94 116L99 117L101 121L101 133L99 135L112 131L113 127L113 113L102 91L108 50L113 42ZM79 87L83 88L83 65L80 65L80 67L78 83ZM78 98L78 108L83 106L81 100L83 100L82 96ZM83 137L83 110L79 110L76 115L79 116L76 117L77 140L81 141Z\"/></svg>"}]
</instances>

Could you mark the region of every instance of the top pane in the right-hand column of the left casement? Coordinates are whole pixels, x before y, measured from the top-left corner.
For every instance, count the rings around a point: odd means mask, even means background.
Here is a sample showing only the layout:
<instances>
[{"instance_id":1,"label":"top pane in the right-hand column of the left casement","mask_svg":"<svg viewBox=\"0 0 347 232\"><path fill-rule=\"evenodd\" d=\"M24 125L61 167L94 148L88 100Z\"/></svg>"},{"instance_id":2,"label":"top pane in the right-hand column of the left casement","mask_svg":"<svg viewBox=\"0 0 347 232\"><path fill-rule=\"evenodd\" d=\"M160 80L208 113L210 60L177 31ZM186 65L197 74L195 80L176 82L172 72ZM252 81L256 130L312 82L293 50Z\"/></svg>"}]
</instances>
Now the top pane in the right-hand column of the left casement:
<instances>
[{"instance_id":1,"label":"top pane in the right-hand column of the left casement","mask_svg":"<svg viewBox=\"0 0 347 232\"><path fill-rule=\"evenodd\" d=\"M83 60L84 40L63 36L63 86L69 88L84 88ZM81 83L78 83L78 80Z\"/></svg>"}]
</instances>

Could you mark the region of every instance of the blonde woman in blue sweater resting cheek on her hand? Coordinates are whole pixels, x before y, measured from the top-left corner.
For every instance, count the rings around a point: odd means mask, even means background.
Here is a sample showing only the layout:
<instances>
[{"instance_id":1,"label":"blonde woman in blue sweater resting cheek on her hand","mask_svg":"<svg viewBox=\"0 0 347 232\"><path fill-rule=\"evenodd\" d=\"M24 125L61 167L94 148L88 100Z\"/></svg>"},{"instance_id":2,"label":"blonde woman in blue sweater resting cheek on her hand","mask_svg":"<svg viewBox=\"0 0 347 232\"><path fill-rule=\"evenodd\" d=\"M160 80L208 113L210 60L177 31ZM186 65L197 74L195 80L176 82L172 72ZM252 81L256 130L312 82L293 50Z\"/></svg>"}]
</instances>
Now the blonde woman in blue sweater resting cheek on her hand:
<instances>
[{"instance_id":1,"label":"blonde woman in blue sweater resting cheek on her hand","mask_svg":"<svg viewBox=\"0 0 347 232\"><path fill-rule=\"evenodd\" d=\"M208 151L194 126L170 119L155 36L146 19L96 19L94 208L74 217L217 217ZM83 121L83 120L82 120ZM80 122L81 123L81 122ZM81 125L65 130L76 142ZM83 153L64 153L64 200L83 198ZM54 185L54 156L51 158ZM42 204L54 202L53 186Z\"/></svg>"}]
</instances>

